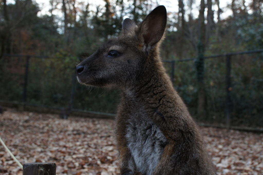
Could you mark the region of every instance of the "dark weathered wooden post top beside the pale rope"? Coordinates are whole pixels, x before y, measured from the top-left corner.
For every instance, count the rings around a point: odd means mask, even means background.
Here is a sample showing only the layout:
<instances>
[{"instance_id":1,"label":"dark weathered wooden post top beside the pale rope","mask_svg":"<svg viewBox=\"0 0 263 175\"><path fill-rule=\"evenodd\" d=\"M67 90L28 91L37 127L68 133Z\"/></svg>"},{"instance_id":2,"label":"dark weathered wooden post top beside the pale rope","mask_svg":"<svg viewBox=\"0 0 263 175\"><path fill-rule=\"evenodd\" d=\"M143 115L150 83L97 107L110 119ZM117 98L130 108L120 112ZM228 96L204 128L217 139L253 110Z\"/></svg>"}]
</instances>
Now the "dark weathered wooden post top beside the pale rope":
<instances>
[{"instance_id":1,"label":"dark weathered wooden post top beside the pale rope","mask_svg":"<svg viewBox=\"0 0 263 175\"><path fill-rule=\"evenodd\" d=\"M56 175L55 163L25 163L23 175Z\"/></svg>"}]
</instances>

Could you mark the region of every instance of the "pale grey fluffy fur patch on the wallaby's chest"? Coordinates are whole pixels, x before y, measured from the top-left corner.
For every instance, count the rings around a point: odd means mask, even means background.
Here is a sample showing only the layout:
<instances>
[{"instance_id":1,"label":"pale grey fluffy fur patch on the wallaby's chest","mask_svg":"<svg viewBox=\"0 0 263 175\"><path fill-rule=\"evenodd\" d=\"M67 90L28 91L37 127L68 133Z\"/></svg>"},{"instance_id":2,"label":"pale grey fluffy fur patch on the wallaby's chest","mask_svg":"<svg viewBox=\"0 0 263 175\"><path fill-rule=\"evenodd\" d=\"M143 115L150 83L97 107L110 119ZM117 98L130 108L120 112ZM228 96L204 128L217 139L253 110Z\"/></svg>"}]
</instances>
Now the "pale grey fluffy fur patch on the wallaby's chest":
<instances>
[{"instance_id":1,"label":"pale grey fluffy fur patch on the wallaby's chest","mask_svg":"<svg viewBox=\"0 0 263 175\"><path fill-rule=\"evenodd\" d=\"M143 119L140 121L130 119L126 133L136 171L145 175L152 174L168 143L164 134L153 122Z\"/></svg>"}]
</instances>

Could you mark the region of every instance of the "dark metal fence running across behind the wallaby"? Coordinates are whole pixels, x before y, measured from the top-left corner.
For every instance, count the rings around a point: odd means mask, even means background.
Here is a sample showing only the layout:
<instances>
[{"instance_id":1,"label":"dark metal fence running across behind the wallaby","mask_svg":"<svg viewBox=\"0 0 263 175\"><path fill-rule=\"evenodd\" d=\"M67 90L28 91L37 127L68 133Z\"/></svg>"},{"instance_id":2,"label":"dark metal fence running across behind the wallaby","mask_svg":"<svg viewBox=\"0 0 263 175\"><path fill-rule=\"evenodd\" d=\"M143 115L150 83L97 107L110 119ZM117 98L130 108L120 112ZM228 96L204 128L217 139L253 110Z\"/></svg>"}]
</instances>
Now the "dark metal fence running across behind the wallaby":
<instances>
[{"instance_id":1,"label":"dark metal fence running across behind the wallaby","mask_svg":"<svg viewBox=\"0 0 263 175\"><path fill-rule=\"evenodd\" d=\"M205 120L195 117L198 98L196 58L168 60L164 61L164 66L198 122L227 128L262 129L262 53L263 49L260 49L205 57L204 88L208 114ZM77 59L74 57L69 63L58 66L56 64L63 61L57 58L4 54L5 79L1 85L1 101L58 109L69 107L78 111L103 112L102 115L114 113L119 101L118 91L106 92L105 89L87 88L76 83L72 62Z\"/></svg>"}]
</instances>

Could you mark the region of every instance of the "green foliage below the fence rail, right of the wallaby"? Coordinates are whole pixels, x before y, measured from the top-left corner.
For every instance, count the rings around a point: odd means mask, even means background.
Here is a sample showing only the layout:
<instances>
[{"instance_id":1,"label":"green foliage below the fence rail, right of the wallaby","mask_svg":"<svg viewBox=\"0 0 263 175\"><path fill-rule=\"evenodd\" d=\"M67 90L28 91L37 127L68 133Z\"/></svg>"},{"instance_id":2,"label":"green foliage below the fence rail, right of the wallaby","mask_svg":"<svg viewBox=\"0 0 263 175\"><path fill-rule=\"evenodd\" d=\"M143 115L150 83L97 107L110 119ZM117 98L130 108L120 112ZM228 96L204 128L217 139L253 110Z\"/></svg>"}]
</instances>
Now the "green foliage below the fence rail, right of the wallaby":
<instances>
[{"instance_id":1,"label":"green foliage below the fence rail, right of the wallaby","mask_svg":"<svg viewBox=\"0 0 263 175\"><path fill-rule=\"evenodd\" d=\"M225 57L204 60L204 88L206 89L207 119L199 122L225 124L226 63ZM194 61L176 62L174 87L183 98L193 117L197 115L198 81ZM168 73L171 65L165 63ZM263 60L262 53L232 56L231 64L231 125L261 127L263 124Z\"/></svg>"}]
</instances>

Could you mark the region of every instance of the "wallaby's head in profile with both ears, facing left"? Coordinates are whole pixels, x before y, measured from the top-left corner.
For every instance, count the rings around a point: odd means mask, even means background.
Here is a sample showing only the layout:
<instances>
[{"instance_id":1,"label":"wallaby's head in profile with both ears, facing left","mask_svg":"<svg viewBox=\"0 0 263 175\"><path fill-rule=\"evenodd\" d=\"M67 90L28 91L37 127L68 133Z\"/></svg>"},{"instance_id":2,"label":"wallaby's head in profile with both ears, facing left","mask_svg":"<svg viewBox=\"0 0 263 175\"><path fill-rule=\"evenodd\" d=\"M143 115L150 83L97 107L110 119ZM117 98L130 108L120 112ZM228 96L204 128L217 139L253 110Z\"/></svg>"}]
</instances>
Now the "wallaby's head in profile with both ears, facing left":
<instances>
[{"instance_id":1,"label":"wallaby's head in profile with both ears, facing left","mask_svg":"<svg viewBox=\"0 0 263 175\"><path fill-rule=\"evenodd\" d=\"M77 65L77 78L89 86L133 86L153 62L160 62L159 45L166 27L166 9L156 7L140 25L123 21L123 34L110 39Z\"/></svg>"}]
</instances>

